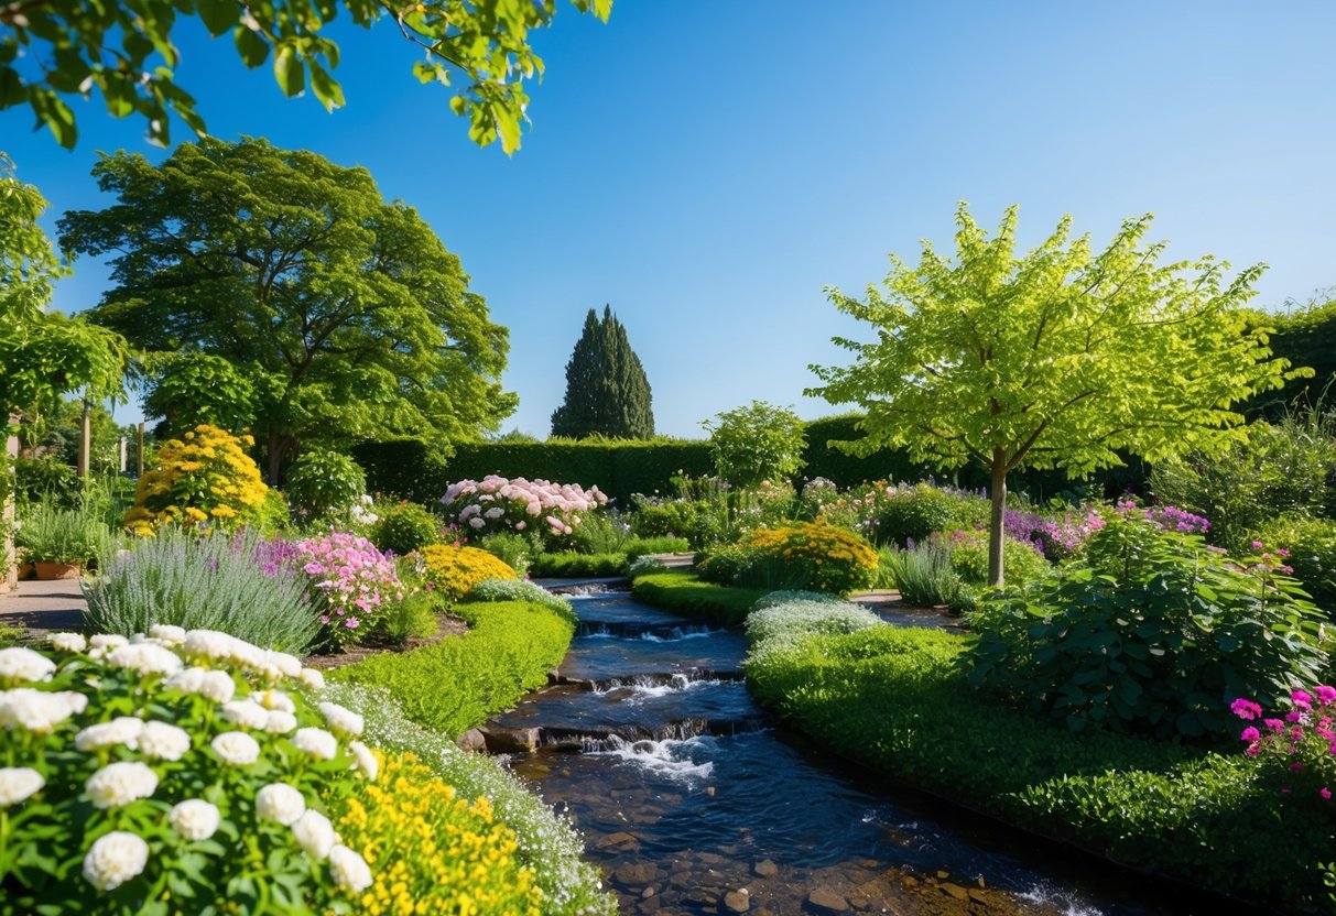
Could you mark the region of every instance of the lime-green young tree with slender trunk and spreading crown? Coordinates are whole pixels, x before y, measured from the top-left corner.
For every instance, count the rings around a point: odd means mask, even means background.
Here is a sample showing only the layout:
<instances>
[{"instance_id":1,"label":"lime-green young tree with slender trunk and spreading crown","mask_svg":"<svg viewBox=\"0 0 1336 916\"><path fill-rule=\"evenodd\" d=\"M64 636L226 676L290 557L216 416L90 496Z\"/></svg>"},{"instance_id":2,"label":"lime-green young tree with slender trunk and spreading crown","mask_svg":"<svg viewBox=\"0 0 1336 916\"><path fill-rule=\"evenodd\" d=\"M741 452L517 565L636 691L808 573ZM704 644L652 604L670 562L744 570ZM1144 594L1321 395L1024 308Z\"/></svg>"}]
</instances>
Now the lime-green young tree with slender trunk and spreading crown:
<instances>
[{"instance_id":1,"label":"lime-green young tree with slender trunk and spreading crown","mask_svg":"<svg viewBox=\"0 0 1336 916\"><path fill-rule=\"evenodd\" d=\"M1230 405L1279 387L1287 362L1268 359L1264 330L1242 304L1263 266L1232 280L1210 256L1158 263L1142 244L1150 216L1129 219L1108 248L1069 243L1070 216L1038 248L1014 256L1017 208L989 239L969 208L957 214L957 258L923 246L916 268L891 255L884 294L828 290L867 322L872 343L835 342L847 367L812 366L808 394L867 411L854 454L904 447L942 469L982 462L991 481L989 581L1002 585L1007 474L1058 467L1086 475L1122 463L1240 441Z\"/></svg>"}]
</instances>

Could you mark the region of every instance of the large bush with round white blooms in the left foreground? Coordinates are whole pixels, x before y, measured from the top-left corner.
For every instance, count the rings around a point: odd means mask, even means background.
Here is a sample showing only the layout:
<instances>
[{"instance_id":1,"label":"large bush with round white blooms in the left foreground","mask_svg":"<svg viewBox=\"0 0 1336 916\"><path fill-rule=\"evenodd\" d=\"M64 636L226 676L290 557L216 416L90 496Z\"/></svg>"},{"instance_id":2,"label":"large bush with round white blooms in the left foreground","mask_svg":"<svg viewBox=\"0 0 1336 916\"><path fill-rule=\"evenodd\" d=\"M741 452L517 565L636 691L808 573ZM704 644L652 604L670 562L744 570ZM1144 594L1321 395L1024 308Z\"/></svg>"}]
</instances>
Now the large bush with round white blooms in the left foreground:
<instances>
[{"instance_id":1,"label":"large bush with round white blooms in the left foreground","mask_svg":"<svg viewBox=\"0 0 1336 916\"><path fill-rule=\"evenodd\" d=\"M52 642L0 652L0 746L28 777L0 817L7 912L354 911L370 872L323 812L370 752L295 657L175 628Z\"/></svg>"}]
</instances>

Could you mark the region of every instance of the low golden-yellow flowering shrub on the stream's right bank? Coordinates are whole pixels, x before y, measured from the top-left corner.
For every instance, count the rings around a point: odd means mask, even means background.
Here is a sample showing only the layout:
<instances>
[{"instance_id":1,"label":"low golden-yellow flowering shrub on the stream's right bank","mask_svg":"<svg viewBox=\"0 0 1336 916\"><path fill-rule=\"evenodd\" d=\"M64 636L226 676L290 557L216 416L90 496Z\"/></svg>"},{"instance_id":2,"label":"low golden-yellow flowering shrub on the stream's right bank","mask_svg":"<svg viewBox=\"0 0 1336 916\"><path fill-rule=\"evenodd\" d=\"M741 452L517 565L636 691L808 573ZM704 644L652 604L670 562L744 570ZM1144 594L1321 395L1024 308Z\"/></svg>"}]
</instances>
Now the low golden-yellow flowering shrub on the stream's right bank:
<instances>
[{"instance_id":1,"label":"low golden-yellow flowering shrub on the stream's right bank","mask_svg":"<svg viewBox=\"0 0 1336 916\"><path fill-rule=\"evenodd\" d=\"M725 585L847 594L870 586L876 565L867 541L816 521L758 529L705 559L700 573Z\"/></svg>"}]
</instances>

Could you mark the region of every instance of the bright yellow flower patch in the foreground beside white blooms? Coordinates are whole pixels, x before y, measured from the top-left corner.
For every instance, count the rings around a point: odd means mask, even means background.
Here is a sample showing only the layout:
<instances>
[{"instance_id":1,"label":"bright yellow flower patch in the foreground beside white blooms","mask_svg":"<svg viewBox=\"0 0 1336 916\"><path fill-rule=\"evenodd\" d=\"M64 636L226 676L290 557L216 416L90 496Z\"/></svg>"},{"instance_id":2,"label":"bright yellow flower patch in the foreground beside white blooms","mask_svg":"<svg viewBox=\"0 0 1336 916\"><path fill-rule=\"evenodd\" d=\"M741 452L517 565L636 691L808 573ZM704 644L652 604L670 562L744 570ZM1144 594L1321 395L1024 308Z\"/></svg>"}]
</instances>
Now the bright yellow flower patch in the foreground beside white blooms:
<instances>
[{"instance_id":1,"label":"bright yellow flower patch in the foreground beside white blooms","mask_svg":"<svg viewBox=\"0 0 1336 916\"><path fill-rule=\"evenodd\" d=\"M335 817L345 845L375 876L361 912L540 916L542 891L486 798L460 798L413 754L374 753L377 781L361 784Z\"/></svg>"}]
</instances>

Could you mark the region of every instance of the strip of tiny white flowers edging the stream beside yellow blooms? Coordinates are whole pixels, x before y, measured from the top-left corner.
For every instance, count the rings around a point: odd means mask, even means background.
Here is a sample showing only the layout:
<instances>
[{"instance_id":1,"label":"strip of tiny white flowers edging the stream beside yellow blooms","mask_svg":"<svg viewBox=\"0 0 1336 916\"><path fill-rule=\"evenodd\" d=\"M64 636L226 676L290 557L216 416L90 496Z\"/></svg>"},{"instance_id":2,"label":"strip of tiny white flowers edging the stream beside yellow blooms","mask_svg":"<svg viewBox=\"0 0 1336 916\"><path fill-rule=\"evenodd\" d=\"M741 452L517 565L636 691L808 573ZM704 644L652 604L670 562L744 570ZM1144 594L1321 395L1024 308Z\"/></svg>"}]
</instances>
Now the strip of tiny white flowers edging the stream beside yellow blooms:
<instances>
[{"instance_id":1,"label":"strip of tiny white flowers edging the stream beside yellow blooms","mask_svg":"<svg viewBox=\"0 0 1336 916\"><path fill-rule=\"evenodd\" d=\"M417 754L460 797L486 797L497 817L514 829L517 856L542 888L544 912L613 916L615 899L601 889L599 872L581 861L580 835L520 777L492 757L461 750L445 734L409 721L383 689L330 684L323 696L365 716L369 744Z\"/></svg>"}]
</instances>

